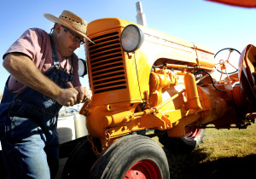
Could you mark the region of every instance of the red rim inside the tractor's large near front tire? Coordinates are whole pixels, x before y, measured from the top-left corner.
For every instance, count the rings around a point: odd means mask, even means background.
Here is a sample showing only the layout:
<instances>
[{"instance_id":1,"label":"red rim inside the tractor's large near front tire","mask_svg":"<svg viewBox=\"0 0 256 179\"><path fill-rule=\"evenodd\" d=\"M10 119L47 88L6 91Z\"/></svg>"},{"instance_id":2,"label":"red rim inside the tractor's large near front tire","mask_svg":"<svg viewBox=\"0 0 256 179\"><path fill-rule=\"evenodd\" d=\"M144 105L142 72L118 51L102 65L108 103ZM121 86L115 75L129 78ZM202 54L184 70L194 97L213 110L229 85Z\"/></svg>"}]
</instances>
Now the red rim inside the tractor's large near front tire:
<instances>
[{"instance_id":1,"label":"red rim inside the tractor's large near front tire","mask_svg":"<svg viewBox=\"0 0 256 179\"><path fill-rule=\"evenodd\" d=\"M144 159L133 165L126 173L124 179L161 178L158 166L151 160Z\"/></svg>"}]
</instances>

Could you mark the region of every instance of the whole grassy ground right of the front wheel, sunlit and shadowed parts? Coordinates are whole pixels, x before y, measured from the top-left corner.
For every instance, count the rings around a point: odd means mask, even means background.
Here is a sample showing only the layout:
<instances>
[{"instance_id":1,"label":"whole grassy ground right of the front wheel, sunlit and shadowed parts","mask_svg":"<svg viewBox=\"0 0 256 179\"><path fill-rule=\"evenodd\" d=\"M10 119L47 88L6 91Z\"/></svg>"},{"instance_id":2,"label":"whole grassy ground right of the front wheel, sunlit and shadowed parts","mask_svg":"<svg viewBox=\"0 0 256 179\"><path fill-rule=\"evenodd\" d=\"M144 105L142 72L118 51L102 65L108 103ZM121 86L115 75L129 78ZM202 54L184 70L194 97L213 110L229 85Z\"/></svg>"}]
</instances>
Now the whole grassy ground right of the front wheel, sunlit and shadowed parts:
<instances>
[{"instance_id":1,"label":"whole grassy ground right of the front wheel, sunlit and shadowed parts","mask_svg":"<svg viewBox=\"0 0 256 179\"><path fill-rule=\"evenodd\" d=\"M166 150L165 150L166 151ZM171 178L256 178L256 124L246 130L207 129L204 143L194 152L166 151Z\"/></svg>"}]
</instances>

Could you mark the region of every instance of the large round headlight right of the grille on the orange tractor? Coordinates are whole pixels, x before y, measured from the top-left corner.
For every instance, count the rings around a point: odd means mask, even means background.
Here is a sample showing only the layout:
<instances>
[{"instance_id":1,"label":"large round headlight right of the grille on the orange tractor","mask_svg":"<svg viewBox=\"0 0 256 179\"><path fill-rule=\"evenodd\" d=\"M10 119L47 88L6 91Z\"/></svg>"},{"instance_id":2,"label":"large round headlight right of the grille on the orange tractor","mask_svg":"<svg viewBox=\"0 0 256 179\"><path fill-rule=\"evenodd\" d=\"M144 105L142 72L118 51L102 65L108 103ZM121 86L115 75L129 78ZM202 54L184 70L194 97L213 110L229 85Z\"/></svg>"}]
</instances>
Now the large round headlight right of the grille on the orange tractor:
<instances>
[{"instance_id":1,"label":"large round headlight right of the grille on the orange tractor","mask_svg":"<svg viewBox=\"0 0 256 179\"><path fill-rule=\"evenodd\" d=\"M135 25L125 26L121 34L121 45L126 52L134 52L139 49L144 41L142 30Z\"/></svg>"}]
</instances>

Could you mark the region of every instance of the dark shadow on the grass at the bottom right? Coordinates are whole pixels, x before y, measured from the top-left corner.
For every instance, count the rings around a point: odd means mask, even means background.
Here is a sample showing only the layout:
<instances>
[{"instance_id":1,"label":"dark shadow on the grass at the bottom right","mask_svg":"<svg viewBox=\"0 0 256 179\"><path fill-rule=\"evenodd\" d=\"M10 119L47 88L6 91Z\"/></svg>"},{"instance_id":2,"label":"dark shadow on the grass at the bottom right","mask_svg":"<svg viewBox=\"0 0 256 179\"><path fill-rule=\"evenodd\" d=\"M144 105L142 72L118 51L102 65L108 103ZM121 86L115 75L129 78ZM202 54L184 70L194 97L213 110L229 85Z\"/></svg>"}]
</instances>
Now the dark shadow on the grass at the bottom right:
<instances>
[{"instance_id":1,"label":"dark shadow on the grass at the bottom right","mask_svg":"<svg viewBox=\"0 0 256 179\"><path fill-rule=\"evenodd\" d=\"M207 160L208 154L200 149L189 154L173 154L165 148L164 150L172 179L256 178L256 155L254 154L243 158L231 157L209 161Z\"/></svg>"}]
</instances>

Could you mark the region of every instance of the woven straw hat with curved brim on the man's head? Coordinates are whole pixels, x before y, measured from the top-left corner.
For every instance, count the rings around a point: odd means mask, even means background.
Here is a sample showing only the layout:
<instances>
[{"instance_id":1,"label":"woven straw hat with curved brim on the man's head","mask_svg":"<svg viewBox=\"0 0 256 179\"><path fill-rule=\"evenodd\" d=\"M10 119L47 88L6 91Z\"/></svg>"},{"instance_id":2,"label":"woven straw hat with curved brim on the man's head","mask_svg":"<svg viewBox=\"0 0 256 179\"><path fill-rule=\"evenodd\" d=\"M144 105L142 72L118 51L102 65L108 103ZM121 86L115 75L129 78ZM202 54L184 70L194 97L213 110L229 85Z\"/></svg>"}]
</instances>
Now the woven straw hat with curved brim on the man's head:
<instances>
[{"instance_id":1,"label":"woven straw hat with curved brim on the man's head","mask_svg":"<svg viewBox=\"0 0 256 179\"><path fill-rule=\"evenodd\" d=\"M88 22L80 18L79 15L73 14L68 10L63 10L59 18L52 14L44 14L44 17L52 22L66 26L68 29L77 32L79 35L93 43L90 38L86 36Z\"/></svg>"}]
</instances>

